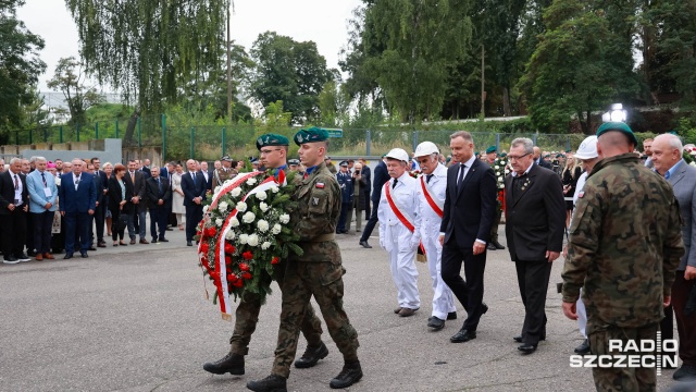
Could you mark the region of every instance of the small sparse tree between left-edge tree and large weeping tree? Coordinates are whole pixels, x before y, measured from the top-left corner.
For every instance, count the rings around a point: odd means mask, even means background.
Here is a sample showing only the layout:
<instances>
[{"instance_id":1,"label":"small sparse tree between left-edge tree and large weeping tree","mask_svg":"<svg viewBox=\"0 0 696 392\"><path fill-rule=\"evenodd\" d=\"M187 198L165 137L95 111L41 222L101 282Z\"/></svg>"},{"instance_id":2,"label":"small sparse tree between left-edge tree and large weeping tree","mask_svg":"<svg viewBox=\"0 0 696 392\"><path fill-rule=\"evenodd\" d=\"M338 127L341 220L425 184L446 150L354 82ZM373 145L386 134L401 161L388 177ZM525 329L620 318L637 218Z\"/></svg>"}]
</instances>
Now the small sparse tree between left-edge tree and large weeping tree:
<instances>
[{"instance_id":1,"label":"small sparse tree between left-edge tree and large weeping tree","mask_svg":"<svg viewBox=\"0 0 696 392\"><path fill-rule=\"evenodd\" d=\"M63 93L70 110L69 124L85 124L85 113L90 107L104 101L95 87L86 86L83 66L74 57L58 60L53 77L46 84Z\"/></svg>"}]
</instances>

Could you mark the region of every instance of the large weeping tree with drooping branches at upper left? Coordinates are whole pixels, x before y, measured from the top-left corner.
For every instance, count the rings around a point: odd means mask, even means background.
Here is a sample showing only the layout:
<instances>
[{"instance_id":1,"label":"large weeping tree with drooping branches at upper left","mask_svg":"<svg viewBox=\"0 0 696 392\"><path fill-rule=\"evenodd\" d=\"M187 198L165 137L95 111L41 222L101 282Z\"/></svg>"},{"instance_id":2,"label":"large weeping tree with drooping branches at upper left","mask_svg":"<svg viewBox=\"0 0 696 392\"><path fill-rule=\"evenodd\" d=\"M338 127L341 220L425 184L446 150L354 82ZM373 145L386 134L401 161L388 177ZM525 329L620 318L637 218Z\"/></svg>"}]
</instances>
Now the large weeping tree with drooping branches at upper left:
<instances>
[{"instance_id":1,"label":"large weeping tree with drooping branches at upper left","mask_svg":"<svg viewBox=\"0 0 696 392\"><path fill-rule=\"evenodd\" d=\"M86 71L136 103L125 143L140 113L161 113L187 81L220 66L229 0L65 1Z\"/></svg>"}]
</instances>

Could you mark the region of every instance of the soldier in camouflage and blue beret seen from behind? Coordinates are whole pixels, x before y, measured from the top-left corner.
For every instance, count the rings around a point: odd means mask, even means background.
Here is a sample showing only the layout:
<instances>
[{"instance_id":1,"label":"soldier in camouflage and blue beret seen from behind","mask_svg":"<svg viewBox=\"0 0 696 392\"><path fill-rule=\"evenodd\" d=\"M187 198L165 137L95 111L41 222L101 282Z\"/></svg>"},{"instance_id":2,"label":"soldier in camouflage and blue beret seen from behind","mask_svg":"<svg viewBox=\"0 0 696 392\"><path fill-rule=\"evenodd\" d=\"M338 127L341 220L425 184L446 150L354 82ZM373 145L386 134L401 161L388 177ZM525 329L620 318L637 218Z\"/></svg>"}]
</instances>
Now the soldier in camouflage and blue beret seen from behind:
<instances>
[{"instance_id":1,"label":"soldier in camouflage and blue beret seen from behind","mask_svg":"<svg viewBox=\"0 0 696 392\"><path fill-rule=\"evenodd\" d=\"M583 287L592 354L609 340L655 340L670 303L674 271L684 254L679 205L672 187L633 154L637 140L624 123L597 131L604 156L579 194L563 268L563 313L576 319ZM597 391L655 391L655 368L593 368Z\"/></svg>"}]
</instances>

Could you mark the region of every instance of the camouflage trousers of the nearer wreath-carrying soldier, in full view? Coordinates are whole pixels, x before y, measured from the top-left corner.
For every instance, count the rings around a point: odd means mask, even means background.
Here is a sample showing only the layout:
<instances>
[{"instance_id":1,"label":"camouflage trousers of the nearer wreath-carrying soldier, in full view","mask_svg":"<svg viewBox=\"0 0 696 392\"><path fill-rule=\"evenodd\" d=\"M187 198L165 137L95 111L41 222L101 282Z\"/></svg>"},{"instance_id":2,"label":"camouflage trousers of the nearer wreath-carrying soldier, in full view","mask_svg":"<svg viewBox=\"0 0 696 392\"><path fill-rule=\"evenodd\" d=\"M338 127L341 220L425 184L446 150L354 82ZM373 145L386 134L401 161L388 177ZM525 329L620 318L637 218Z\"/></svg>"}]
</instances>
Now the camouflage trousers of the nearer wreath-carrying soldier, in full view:
<instances>
[{"instance_id":1,"label":"camouflage trousers of the nearer wreath-carrying soldier, in full view","mask_svg":"<svg viewBox=\"0 0 696 392\"><path fill-rule=\"evenodd\" d=\"M288 261L283 282L281 328L272 370L274 375L285 378L290 375L299 327L312 295L344 360L358 360L358 332L344 310L344 273L340 262Z\"/></svg>"}]
</instances>

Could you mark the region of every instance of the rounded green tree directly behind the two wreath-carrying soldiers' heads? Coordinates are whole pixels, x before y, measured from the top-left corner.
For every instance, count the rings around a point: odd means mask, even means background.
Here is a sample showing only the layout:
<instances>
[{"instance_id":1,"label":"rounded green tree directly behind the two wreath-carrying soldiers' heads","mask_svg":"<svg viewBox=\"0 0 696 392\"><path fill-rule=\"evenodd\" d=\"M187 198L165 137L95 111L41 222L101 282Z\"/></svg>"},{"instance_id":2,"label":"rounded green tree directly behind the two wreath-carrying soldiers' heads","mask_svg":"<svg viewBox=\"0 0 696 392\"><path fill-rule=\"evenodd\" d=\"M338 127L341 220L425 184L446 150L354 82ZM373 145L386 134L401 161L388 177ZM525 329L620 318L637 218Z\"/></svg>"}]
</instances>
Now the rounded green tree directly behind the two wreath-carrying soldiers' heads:
<instances>
[{"instance_id":1,"label":"rounded green tree directly behind the two wreath-carrying soldiers' heads","mask_svg":"<svg viewBox=\"0 0 696 392\"><path fill-rule=\"evenodd\" d=\"M251 58L256 62L251 97L263 107L283 101L295 123L319 117L319 94L333 74L316 44L265 32L253 42Z\"/></svg>"}]
</instances>

